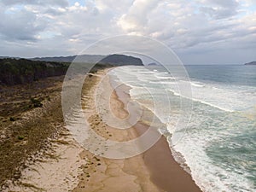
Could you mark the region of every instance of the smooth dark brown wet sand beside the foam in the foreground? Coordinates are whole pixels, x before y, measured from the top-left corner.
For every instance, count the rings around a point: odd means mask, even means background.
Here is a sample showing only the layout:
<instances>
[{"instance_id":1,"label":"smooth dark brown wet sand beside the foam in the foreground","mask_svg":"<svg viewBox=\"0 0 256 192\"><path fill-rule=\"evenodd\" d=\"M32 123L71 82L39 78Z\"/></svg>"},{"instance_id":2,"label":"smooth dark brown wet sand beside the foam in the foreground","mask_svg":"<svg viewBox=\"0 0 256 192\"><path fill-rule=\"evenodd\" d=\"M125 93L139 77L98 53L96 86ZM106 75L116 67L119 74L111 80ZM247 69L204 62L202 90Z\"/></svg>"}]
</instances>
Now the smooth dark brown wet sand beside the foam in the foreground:
<instances>
[{"instance_id":1,"label":"smooth dark brown wet sand beside the foam in the foreground","mask_svg":"<svg viewBox=\"0 0 256 192\"><path fill-rule=\"evenodd\" d=\"M150 172L151 181L160 189L180 192L201 191L189 173L185 172L172 157L166 137L161 137L146 151L143 160Z\"/></svg>"}]
</instances>

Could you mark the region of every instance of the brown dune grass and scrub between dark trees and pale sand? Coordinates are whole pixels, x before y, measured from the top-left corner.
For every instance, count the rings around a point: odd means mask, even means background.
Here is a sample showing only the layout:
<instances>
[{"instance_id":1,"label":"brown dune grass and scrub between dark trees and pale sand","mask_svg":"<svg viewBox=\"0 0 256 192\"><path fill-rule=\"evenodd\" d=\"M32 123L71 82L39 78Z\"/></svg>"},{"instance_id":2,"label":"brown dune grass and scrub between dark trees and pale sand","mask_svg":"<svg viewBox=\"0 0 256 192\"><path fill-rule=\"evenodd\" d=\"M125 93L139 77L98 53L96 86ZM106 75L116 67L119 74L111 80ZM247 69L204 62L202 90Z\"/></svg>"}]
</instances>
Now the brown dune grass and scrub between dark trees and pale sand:
<instances>
[{"instance_id":1,"label":"brown dune grass and scrub between dark trees and pale sand","mask_svg":"<svg viewBox=\"0 0 256 192\"><path fill-rule=\"evenodd\" d=\"M1 92L0 131L7 126L8 131L3 132L5 137L1 138L0 191L5 181L17 179L17 170L20 172L24 169L26 160L29 160L32 154L49 148L46 145L48 138L54 137L56 131L62 129L63 113L61 108L58 108L61 105L62 80L63 77L54 77L33 84L10 86ZM55 99L51 99L45 108L38 111L35 107L42 107L41 102L47 96ZM29 110L31 112L26 113ZM18 118L23 117L23 114L26 114L25 119ZM13 119L19 121L19 124L12 123Z\"/></svg>"}]
</instances>

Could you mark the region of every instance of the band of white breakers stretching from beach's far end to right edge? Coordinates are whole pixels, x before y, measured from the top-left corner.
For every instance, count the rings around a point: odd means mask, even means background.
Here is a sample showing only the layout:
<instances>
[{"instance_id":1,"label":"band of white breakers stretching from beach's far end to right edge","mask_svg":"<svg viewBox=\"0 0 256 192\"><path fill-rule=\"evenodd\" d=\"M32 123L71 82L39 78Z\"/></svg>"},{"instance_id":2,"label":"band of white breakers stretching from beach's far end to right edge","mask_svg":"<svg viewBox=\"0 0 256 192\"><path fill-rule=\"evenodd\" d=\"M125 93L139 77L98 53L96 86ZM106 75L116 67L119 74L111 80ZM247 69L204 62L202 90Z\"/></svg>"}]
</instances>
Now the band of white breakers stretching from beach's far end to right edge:
<instances>
[{"instance_id":1,"label":"band of white breakers stretching from beach's far end to right edge","mask_svg":"<svg viewBox=\"0 0 256 192\"><path fill-rule=\"evenodd\" d=\"M251 87L229 87L223 84L206 84L193 80L186 82L173 78L171 75L166 76L168 74L166 72L149 71L144 67L117 67L112 71L114 75L120 77L119 79L130 85L137 84L137 79L146 84L166 85L166 89L172 91L176 96L181 96L178 84L186 84L187 87L190 85L192 97L182 95L183 97L226 112L245 111L247 108L251 108L256 101L256 89ZM154 75L148 75L151 73ZM250 92L245 90L250 90Z\"/></svg>"}]
</instances>

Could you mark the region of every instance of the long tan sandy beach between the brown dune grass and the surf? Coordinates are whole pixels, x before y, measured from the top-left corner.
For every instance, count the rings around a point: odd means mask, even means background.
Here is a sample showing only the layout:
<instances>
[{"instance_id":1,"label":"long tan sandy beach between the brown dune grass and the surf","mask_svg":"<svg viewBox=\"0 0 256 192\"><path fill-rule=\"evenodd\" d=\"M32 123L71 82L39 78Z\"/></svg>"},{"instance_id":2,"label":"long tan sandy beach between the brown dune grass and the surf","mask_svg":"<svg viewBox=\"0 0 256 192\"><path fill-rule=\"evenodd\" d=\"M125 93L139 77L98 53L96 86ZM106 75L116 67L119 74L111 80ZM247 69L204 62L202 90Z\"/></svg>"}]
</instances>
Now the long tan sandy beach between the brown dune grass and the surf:
<instances>
[{"instance_id":1,"label":"long tan sandy beach between the brown dune grass and the surf","mask_svg":"<svg viewBox=\"0 0 256 192\"><path fill-rule=\"evenodd\" d=\"M84 82L82 105L90 127L98 135L113 141L128 141L143 134L148 125L143 120L127 130L107 125L96 113L95 91L107 70L92 75ZM105 83L105 89L110 89ZM119 88L111 96L111 109L116 117L125 119L129 101L127 89ZM20 181L10 184L11 191L201 191L172 157L165 137L143 154L123 160L96 156L80 147L63 127L52 140L52 157L42 157L28 166ZM22 184L21 184L22 183Z\"/></svg>"}]
</instances>

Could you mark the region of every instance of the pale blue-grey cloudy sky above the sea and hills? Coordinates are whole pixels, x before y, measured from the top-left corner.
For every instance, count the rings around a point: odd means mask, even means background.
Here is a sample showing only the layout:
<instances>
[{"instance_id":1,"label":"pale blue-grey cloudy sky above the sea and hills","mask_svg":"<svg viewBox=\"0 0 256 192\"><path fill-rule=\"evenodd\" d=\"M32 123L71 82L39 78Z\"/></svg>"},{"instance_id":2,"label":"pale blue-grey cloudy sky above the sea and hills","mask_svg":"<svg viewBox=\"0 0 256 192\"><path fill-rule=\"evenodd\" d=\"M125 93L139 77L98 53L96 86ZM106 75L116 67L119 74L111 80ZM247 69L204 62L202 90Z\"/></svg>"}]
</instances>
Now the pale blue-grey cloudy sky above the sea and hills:
<instances>
[{"instance_id":1,"label":"pale blue-grey cloudy sky above the sea and hills","mask_svg":"<svg viewBox=\"0 0 256 192\"><path fill-rule=\"evenodd\" d=\"M256 0L0 0L0 55L76 55L143 35L185 64L256 61Z\"/></svg>"}]
</instances>

